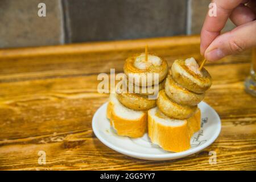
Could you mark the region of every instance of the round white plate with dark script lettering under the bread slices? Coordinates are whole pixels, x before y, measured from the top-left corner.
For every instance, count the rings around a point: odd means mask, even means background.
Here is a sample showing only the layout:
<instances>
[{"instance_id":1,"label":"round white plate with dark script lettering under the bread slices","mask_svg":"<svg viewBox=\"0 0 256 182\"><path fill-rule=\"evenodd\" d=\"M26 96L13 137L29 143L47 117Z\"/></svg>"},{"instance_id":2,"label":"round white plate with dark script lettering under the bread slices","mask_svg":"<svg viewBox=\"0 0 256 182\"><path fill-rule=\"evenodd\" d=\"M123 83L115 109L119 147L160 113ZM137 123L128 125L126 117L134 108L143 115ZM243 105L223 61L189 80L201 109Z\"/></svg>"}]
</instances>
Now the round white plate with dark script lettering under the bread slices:
<instances>
[{"instance_id":1,"label":"round white plate with dark script lettering under the bread slices","mask_svg":"<svg viewBox=\"0 0 256 182\"><path fill-rule=\"evenodd\" d=\"M118 136L110 126L109 119L106 118L107 105L108 103L102 105L93 116L92 127L94 134L109 148L133 158L146 160L184 158L208 147L221 131L221 121L216 111L205 102L200 102L201 129L191 138L191 148L183 152L168 152L151 143L147 134L137 139Z\"/></svg>"}]
</instances>

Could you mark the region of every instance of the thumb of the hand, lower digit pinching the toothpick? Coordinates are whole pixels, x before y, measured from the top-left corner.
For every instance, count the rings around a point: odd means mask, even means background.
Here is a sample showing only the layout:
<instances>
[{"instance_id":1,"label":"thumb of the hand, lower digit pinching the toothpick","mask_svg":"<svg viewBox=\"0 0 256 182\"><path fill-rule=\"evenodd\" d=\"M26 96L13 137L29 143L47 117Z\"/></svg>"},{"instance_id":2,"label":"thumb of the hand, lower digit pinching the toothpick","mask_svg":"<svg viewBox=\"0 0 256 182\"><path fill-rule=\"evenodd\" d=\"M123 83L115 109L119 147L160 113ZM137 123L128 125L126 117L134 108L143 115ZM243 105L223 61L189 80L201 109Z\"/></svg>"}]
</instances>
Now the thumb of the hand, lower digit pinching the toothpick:
<instances>
[{"instance_id":1,"label":"thumb of the hand, lower digit pinching the toothpick","mask_svg":"<svg viewBox=\"0 0 256 182\"><path fill-rule=\"evenodd\" d=\"M256 46L256 20L217 36L205 50L205 59L216 61Z\"/></svg>"}]
</instances>

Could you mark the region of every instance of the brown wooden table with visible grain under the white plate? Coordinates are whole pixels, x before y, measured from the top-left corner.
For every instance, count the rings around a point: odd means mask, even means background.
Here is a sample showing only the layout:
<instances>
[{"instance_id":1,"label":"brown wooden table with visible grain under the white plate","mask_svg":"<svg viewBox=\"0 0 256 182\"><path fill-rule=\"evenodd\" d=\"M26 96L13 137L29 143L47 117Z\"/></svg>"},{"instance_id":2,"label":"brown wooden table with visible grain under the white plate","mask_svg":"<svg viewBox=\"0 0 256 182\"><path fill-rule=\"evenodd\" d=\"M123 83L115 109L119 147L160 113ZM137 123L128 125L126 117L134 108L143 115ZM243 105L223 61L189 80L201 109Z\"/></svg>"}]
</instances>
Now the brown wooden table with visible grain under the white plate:
<instances>
[{"instance_id":1,"label":"brown wooden table with visible grain under the white plate","mask_svg":"<svg viewBox=\"0 0 256 182\"><path fill-rule=\"evenodd\" d=\"M106 147L92 131L94 112L108 100L97 75L122 72L125 59L150 51L167 59L201 60L199 36L0 50L0 169L215 170L256 169L256 98L246 94L250 51L206 68L213 85L205 97L221 117L217 140L187 158L133 159ZM39 151L46 164L39 164ZM217 164L209 164L209 151Z\"/></svg>"}]
</instances>

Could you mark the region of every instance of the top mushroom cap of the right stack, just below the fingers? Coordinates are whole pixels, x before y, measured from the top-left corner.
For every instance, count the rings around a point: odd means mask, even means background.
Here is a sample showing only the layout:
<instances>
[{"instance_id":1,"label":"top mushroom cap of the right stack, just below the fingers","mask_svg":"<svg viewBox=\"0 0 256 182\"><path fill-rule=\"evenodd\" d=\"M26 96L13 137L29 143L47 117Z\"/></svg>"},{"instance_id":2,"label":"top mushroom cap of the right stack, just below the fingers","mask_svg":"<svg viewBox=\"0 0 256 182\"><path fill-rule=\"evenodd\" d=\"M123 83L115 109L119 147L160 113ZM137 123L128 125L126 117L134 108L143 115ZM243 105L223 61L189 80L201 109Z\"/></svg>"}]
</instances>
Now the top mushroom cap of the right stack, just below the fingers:
<instances>
[{"instance_id":1,"label":"top mushroom cap of the right stack, just below the fingers","mask_svg":"<svg viewBox=\"0 0 256 182\"><path fill-rule=\"evenodd\" d=\"M212 85L212 78L208 71L201 69L201 75L191 71L184 60L175 60L171 67L172 78L183 88L195 93L204 93Z\"/></svg>"}]
</instances>

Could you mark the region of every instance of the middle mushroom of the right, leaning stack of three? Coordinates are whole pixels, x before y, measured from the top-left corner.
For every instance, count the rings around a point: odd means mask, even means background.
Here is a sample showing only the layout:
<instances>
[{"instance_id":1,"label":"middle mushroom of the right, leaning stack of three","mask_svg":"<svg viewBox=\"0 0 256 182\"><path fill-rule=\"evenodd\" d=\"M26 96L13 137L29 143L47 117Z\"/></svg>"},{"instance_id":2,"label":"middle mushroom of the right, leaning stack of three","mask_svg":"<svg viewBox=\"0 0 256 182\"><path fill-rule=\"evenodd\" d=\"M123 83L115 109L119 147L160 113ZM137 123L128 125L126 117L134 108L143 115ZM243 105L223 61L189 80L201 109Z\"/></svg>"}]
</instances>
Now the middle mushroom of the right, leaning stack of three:
<instances>
[{"instance_id":1,"label":"middle mushroom of the right, leaning stack of three","mask_svg":"<svg viewBox=\"0 0 256 182\"><path fill-rule=\"evenodd\" d=\"M172 79L171 75L168 75L166 78L164 90L172 101L181 105L196 106L205 96L205 93L197 94L181 87Z\"/></svg>"}]
</instances>

